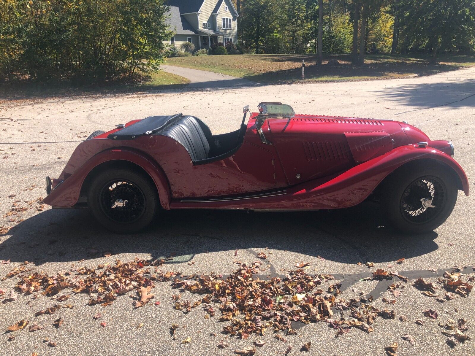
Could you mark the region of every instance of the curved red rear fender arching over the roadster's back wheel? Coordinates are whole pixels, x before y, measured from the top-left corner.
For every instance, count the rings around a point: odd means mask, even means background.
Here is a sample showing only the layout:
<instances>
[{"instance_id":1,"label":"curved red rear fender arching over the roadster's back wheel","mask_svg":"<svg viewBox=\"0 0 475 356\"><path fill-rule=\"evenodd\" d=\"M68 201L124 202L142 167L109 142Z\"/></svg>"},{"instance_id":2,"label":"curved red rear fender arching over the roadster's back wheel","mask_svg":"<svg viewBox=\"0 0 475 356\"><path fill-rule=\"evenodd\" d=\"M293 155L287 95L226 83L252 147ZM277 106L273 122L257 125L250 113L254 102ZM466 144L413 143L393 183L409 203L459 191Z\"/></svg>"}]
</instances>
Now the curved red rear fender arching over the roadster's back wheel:
<instances>
[{"instance_id":1,"label":"curved red rear fender arching over the roadster's back wheel","mask_svg":"<svg viewBox=\"0 0 475 356\"><path fill-rule=\"evenodd\" d=\"M170 185L161 167L145 153L123 148L105 150L88 159L60 186L52 190L51 193L43 199L43 202L61 208L74 206L79 199L83 184L87 182L87 179L101 168L105 168L106 166L110 167L110 164L113 164L114 161L116 161L118 167L120 167L121 162L128 162L128 164L134 164L143 169L150 178L152 178L157 187L161 206L164 209L170 209Z\"/></svg>"}]
</instances>

